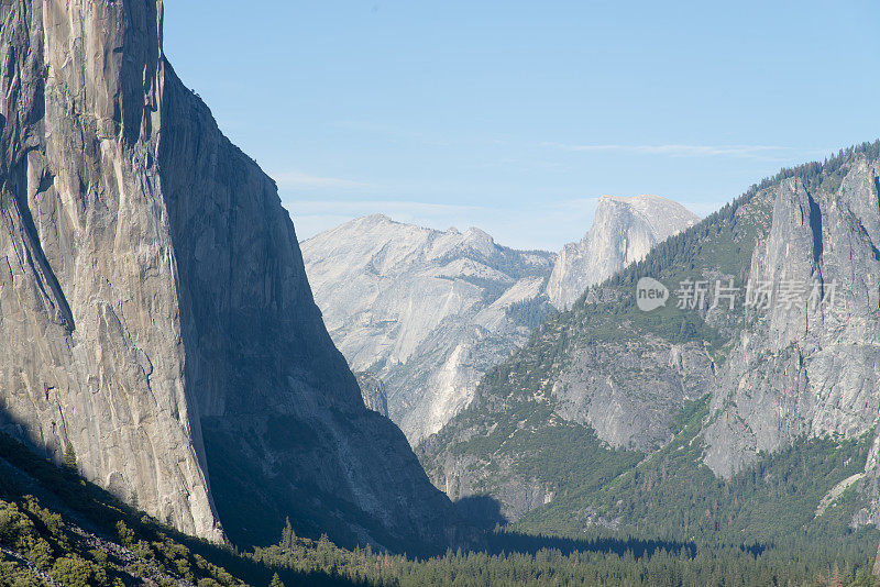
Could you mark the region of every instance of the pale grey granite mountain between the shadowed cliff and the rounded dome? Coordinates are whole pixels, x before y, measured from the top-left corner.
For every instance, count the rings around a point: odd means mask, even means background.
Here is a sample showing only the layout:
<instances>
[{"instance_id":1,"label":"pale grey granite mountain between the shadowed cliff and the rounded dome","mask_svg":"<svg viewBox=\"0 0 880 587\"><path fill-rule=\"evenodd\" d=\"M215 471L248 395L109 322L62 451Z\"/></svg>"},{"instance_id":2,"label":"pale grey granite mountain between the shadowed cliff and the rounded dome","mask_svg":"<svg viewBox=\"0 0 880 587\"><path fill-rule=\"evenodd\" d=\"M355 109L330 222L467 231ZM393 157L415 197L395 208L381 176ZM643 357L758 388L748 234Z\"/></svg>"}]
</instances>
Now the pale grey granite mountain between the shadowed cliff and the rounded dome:
<instances>
[{"instance_id":1,"label":"pale grey granite mountain between the shadowed cliff and the rounded dome","mask_svg":"<svg viewBox=\"0 0 880 587\"><path fill-rule=\"evenodd\" d=\"M509 310L546 303L553 258L498 246L477 229L439 232L382 215L309 239L302 253L330 334L352 369L385 383L389 416L414 445L526 341L529 328Z\"/></svg>"}]
</instances>

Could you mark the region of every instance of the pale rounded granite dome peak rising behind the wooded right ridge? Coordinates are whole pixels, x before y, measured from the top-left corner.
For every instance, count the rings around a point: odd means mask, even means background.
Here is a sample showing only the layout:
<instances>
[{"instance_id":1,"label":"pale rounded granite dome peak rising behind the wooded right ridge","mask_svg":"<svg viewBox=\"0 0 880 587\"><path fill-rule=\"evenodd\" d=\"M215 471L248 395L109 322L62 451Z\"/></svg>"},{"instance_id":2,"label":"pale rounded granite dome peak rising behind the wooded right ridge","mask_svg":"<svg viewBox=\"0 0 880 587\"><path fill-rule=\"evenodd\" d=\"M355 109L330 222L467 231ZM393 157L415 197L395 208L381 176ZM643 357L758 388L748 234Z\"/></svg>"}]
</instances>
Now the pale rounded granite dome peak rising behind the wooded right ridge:
<instances>
[{"instance_id":1,"label":"pale rounded granite dome peak rising behind the wooded right ridge","mask_svg":"<svg viewBox=\"0 0 880 587\"><path fill-rule=\"evenodd\" d=\"M644 259L657 243L698 221L683 206L658 196L603 196L586 235L560 252L547 284L550 301L568 310L590 286Z\"/></svg>"}]
</instances>

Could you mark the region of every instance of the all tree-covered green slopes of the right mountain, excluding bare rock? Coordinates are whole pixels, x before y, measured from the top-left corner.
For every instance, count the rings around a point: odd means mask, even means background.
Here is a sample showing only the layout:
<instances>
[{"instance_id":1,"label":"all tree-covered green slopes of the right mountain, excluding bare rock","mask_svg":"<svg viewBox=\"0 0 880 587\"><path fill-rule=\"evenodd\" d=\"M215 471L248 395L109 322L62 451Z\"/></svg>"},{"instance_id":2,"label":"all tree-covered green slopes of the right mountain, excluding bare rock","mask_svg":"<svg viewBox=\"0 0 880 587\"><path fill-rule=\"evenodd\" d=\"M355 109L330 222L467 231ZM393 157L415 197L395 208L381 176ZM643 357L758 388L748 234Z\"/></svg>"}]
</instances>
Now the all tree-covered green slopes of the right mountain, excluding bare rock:
<instances>
[{"instance_id":1,"label":"all tree-covered green slopes of the right mountain, excluding bare rock","mask_svg":"<svg viewBox=\"0 0 880 587\"><path fill-rule=\"evenodd\" d=\"M645 342L659 339L698 345L723 364L746 325L744 313L682 310L674 294L664 308L641 312L635 303L638 279L651 276L671 291L685 279L719 277L743 288L756 243L770 230L774 187L796 178L809 190L834 190L862 158L880 159L880 141L781 170L593 288L572 310L547 317L520 351L485 375L472 405L418 447L426 470L438 479L450 457L473 463L473 487L496 498L512 478L539 481L553 500L515 524L520 531L578 538L607 527L625 536L695 541L704 547L784 544L795 558L794 553L811 550L846 553L847 560L867 564L880 534L849 527L866 506L860 486L844 490L821 516L816 511L832 488L864 469L868 436L799 439L725 480L703 464L700 431L707 398L685 406L670 427L672 441L646 458L607 446L587 425L562 420L553 394L575 351L586 346L649 348Z\"/></svg>"}]
</instances>

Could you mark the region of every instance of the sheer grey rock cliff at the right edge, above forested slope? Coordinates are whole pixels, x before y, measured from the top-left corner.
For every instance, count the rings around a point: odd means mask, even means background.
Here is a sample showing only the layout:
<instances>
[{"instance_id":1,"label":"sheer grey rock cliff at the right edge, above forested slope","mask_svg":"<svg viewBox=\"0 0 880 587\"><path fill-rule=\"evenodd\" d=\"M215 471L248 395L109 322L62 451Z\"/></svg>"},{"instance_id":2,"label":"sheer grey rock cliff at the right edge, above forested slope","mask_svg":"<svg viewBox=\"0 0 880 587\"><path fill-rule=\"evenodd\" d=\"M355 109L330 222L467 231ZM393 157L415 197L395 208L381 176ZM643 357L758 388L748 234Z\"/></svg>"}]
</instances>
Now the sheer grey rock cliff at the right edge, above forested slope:
<instances>
[{"instance_id":1,"label":"sheer grey rock cliff at the right edge, above forested slope","mask_svg":"<svg viewBox=\"0 0 880 587\"><path fill-rule=\"evenodd\" d=\"M730 476L801 435L854 438L877 423L879 171L862 158L834 191L811 192L798 179L778 188L749 275L774 284L777 300L749 317L719 374L705 431L705 461L716 474ZM806 284L807 296L816 284L827 302L789 307L787 284Z\"/></svg>"}]
</instances>

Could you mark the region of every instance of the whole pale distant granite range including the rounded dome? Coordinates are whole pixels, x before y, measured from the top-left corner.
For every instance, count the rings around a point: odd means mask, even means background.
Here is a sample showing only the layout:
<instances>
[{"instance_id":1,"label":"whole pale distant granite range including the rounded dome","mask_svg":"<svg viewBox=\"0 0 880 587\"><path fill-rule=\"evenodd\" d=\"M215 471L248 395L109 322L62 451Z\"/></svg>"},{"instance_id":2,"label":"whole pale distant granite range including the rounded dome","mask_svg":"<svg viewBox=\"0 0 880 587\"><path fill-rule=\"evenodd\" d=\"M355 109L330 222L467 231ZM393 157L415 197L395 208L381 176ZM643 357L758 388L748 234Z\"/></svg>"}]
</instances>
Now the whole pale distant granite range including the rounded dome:
<instances>
[{"instance_id":1,"label":"whole pale distant granite range including the rounded dome","mask_svg":"<svg viewBox=\"0 0 880 587\"><path fill-rule=\"evenodd\" d=\"M548 279L576 299L695 218L654 196L603 197L583 251L569 245L576 253L559 256L501 246L474 228L442 232L382 214L301 247L330 335L352 369L385 384L389 417L416 445L466 407L482 375L553 312Z\"/></svg>"}]
</instances>

